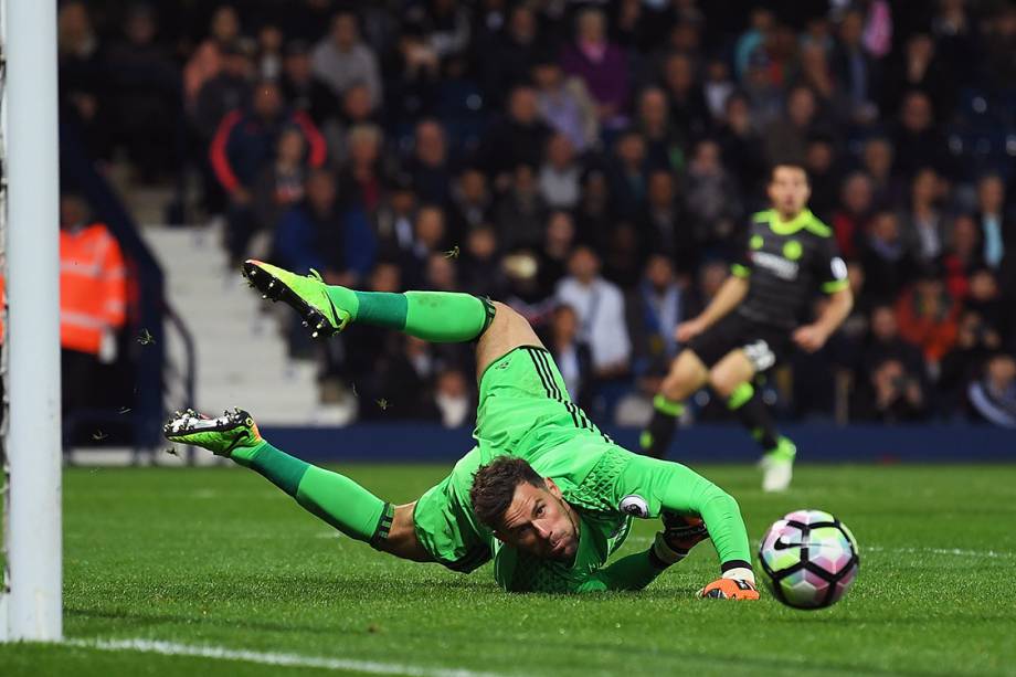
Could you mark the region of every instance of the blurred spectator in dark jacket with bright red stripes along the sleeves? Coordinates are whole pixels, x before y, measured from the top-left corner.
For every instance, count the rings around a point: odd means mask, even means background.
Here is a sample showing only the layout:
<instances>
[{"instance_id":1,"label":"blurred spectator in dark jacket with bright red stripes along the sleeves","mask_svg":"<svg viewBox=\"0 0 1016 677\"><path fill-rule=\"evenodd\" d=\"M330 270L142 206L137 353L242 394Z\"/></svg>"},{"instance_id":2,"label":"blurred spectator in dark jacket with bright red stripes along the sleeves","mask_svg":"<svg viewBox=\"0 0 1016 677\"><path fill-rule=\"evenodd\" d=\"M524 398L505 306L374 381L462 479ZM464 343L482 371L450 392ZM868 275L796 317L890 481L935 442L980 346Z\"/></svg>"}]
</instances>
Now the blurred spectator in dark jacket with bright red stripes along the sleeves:
<instances>
[{"instance_id":1,"label":"blurred spectator in dark jacket with bright red stripes along the sleeves","mask_svg":"<svg viewBox=\"0 0 1016 677\"><path fill-rule=\"evenodd\" d=\"M210 158L215 176L229 195L226 248L232 260L243 260L253 232L251 190L264 167L274 161L276 139L287 126L300 129L311 167L325 162L325 139L303 113L288 113L278 85L271 81L255 87L250 110L226 115L215 131Z\"/></svg>"}]
</instances>

